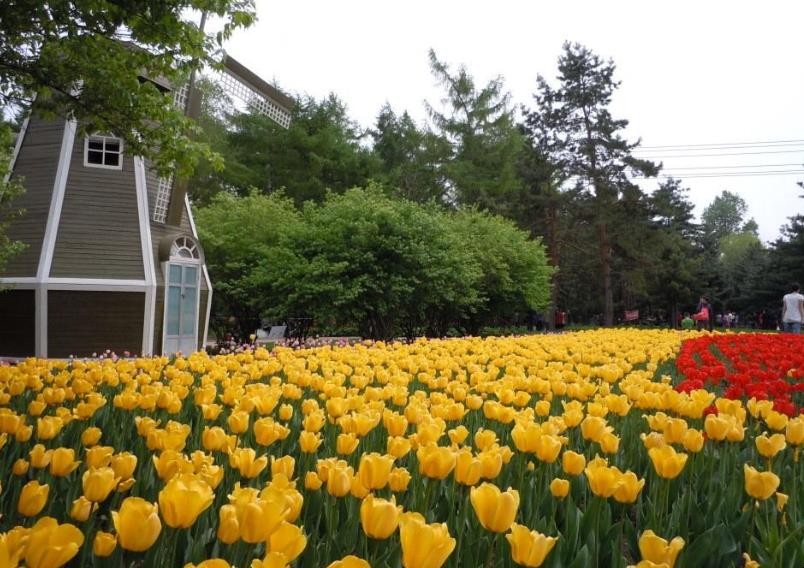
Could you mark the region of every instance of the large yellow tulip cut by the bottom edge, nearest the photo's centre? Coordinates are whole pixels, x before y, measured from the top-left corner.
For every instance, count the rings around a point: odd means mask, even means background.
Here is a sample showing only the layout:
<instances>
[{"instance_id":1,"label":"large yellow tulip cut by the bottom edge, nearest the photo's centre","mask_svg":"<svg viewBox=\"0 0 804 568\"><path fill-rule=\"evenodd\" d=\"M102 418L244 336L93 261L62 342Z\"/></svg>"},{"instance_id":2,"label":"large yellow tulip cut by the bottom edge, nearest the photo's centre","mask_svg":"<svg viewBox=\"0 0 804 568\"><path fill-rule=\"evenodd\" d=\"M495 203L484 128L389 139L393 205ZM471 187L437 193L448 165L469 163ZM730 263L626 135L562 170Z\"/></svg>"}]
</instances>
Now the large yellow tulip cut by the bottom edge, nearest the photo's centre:
<instances>
[{"instance_id":1,"label":"large yellow tulip cut by the bottom edge, nearest the photo's centre","mask_svg":"<svg viewBox=\"0 0 804 568\"><path fill-rule=\"evenodd\" d=\"M440 568L455 549L446 523L428 525L416 513L402 515L399 538L404 568Z\"/></svg>"}]
</instances>

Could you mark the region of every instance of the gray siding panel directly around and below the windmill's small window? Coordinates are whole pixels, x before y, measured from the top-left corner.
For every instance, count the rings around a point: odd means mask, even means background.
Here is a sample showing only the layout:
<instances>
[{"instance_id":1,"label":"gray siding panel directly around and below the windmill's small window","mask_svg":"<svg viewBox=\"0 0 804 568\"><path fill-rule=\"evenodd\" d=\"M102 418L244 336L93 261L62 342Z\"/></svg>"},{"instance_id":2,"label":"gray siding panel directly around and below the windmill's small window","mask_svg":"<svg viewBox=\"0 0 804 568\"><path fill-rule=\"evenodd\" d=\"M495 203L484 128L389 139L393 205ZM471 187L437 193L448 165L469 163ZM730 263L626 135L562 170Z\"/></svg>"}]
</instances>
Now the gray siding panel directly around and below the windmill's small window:
<instances>
[{"instance_id":1,"label":"gray siding panel directly around and below the windmill's small window","mask_svg":"<svg viewBox=\"0 0 804 568\"><path fill-rule=\"evenodd\" d=\"M123 169L84 166L76 137L50 276L143 279L134 159Z\"/></svg>"}]
</instances>

